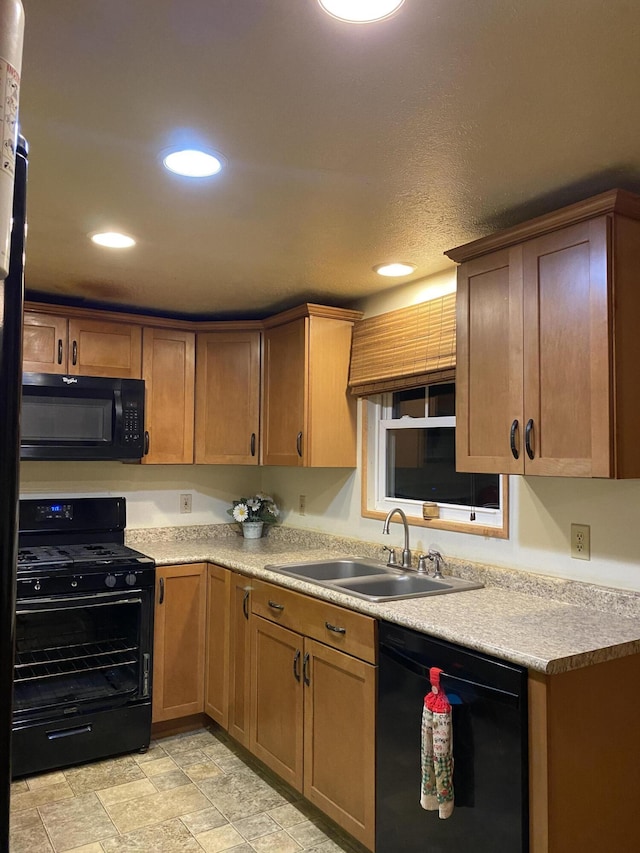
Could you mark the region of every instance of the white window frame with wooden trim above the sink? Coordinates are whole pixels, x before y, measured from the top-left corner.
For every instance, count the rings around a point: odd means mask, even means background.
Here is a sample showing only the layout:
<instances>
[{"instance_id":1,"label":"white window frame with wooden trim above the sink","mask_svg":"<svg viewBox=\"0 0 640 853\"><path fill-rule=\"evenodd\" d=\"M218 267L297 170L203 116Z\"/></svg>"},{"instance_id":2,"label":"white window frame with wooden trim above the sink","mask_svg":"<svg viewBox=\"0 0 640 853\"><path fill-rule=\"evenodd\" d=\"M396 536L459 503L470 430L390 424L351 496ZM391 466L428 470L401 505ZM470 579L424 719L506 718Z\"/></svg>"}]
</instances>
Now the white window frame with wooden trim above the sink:
<instances>
[{"instance_id":1,"label":"white window frame with wooden trim above the sink","mask_svg":"<svg viewBox=\"0 0 640 853\"><path fill-rule=\"evenodd\" d=\"M457 533L471 533L477 536L489 536L497 539L509 538L509 478L499 475L500 510L480 507L455 507L452 504L440 506L440 517L424 519L423 501L403 498L387 498L382 494L382 485L386 480L387 459L382 452L382 433L386 429L420 428L426 422L430 426L455 426L455 417L390 418L392 393L381 393L361 399L362 417L362 493L361 515L363 518L384 519L389 510L400 507L404 510L409 524L417 527L430 527L436 530L450 530ZM404 421L404 423L403 423ZM383 424L385 425L383 428ZM469 515L473 509L475 521Z\"/></svg>"}]
</instances>

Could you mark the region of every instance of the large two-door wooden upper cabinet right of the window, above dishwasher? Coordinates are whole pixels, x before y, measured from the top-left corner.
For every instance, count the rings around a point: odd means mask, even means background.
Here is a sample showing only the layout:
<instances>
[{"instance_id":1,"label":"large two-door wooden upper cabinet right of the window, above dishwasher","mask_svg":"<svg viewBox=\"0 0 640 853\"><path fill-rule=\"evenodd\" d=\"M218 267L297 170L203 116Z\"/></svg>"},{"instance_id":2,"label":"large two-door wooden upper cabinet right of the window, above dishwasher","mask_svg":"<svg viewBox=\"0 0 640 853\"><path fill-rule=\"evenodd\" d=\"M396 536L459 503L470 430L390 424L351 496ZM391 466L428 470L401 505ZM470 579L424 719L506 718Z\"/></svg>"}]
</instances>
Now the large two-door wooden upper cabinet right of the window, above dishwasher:
<instances>
[{"instance_id":1,"label":"large two-door wooden upper cabinet right of the window, above dishwasher","mask_svg":"<svg viewBox=\"0 0 640 853\"><path fill-rule=\"evenodd\" d=\"M447 253L458 470L640 476L639 220L613 191Z\"/></svg>"}]
</instances>

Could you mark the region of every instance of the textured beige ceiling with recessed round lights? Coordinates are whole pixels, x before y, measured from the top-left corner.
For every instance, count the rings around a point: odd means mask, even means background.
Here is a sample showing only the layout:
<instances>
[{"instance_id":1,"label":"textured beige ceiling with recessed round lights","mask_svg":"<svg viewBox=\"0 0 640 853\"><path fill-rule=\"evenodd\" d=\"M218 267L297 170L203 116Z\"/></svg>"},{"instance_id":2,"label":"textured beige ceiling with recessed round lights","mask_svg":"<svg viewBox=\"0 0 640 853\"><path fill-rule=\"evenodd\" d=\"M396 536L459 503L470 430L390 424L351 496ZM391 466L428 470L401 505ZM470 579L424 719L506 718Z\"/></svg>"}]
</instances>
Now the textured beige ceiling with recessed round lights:
<instances>
[{"instance_id":1,"label":"textured beige ceiling with recessed round lights","mask_svg":"<svg viewBox=\"0 0 640 853\"><path fill-rule=\"evenodd\" d=\"M640 190L637 0L23 0L30 292L161 312L349 305L443 251ZM200 141L227 165L170 175ZM138 240L114 252L87 233ZM398 280L406 281L408 279Z\"/></svg>"}]
</instances>

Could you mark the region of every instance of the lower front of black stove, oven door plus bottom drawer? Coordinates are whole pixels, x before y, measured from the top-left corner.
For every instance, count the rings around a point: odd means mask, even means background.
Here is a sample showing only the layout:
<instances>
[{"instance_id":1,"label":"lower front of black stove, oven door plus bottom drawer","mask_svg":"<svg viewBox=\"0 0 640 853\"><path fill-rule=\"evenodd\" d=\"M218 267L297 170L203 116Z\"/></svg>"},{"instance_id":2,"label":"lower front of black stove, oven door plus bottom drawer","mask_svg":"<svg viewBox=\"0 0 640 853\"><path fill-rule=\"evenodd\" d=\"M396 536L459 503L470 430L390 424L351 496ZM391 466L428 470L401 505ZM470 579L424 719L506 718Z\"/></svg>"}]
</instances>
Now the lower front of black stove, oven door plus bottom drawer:
<instances>
[{"instance_id":1,"label":"lower front of black stove, oven door plus bottom drawer","mask_svg":"<svg viewBox=\"0 0 640 853\"><path fill-rule=\"evenodd\" d=\"M16 622L14 777L148 747L152 590L22 599Z\"/></svg>"}]
</instances>

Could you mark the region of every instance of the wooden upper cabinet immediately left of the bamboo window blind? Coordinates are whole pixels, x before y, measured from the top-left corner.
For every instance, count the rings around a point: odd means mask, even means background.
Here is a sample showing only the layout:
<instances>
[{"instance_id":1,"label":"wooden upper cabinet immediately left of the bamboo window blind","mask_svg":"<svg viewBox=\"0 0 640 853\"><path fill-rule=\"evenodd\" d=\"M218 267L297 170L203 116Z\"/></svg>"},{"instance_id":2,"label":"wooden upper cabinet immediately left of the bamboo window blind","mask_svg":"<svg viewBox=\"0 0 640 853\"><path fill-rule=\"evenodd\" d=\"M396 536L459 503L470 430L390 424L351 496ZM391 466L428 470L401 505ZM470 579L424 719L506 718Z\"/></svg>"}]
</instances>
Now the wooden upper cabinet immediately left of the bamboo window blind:
<instances>
[{"instance_id":1,"label":"wooden upper cabinet immediately left of the bamboo window blind","mask_svg":"<svg viewBox=\"0 0 640 853\"><path fill-rule=\"evenodd\" d=\"M264 337L264 465L355 467L356 401L347 379L357 312L280 315ZM299 312L297 312L299 313ZM274 321L275 322L275 321Z\"/></svg>"}]
</instances>

